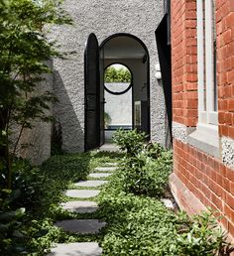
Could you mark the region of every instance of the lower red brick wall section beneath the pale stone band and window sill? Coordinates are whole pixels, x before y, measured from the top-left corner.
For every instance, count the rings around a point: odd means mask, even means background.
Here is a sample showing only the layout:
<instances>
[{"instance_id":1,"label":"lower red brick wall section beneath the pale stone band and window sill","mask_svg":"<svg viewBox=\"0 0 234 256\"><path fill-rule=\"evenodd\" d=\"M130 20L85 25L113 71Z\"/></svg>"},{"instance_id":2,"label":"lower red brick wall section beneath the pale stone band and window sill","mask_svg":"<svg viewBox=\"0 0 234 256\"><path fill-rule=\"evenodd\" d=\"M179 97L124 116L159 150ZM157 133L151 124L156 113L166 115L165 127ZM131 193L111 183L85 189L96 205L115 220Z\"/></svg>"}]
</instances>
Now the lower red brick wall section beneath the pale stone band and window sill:
<instances>
[{"instance_id":1,"label":"lower red brick wall section beneath the pale stone band and window sill","mask_svg":"<svg viewBox=\"0 0 234 256\"><path fill-rule=\"evenodd\" d=\"M194 147L175 140L174 173L206 207L221 212L223 226L234 236L233 170Z\"/></svg>"}]
</instances>

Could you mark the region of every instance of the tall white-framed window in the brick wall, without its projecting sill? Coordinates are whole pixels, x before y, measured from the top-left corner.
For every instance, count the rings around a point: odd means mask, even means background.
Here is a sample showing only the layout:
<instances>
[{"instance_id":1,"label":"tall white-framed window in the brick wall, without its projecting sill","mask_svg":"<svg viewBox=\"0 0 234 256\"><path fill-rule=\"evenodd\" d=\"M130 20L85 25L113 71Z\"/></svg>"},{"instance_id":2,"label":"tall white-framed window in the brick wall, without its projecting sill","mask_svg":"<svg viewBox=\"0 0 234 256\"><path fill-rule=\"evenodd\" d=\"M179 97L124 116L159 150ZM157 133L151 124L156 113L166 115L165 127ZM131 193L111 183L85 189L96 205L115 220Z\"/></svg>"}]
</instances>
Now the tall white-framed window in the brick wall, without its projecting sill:
<instances>
[{"instance_id":1,"label":"tall white-framed window in the brick wall, without its projecting sill","mask_svg":"<svg viewBox=\"0 0 234 256\"><path fill-rule=\"evenodd\" d=\"M196 1L198 126L218 124L215 1Z\"/></svg>"}]
</instances>

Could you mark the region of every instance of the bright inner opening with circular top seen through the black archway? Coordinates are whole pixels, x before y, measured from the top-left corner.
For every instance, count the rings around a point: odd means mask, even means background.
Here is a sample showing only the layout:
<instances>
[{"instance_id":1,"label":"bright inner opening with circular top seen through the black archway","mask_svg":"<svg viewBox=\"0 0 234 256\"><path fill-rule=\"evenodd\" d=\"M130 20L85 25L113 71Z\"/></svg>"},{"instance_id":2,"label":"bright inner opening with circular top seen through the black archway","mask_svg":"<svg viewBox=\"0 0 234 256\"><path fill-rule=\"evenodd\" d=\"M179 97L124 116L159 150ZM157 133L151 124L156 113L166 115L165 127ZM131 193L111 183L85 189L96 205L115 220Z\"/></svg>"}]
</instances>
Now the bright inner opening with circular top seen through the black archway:
<instances>
[{"instance_id":1,"label":"bright inner opening with circular top seen through the black archway","mask_svg":"<svg viewBox=\"0 0 234 256\"><path fill-rule=\"evenodd\" d=\"M110 64L104 70L105 143L118 128L133 128L133 73L125 64Z\"/></svg>"}]
</instances>

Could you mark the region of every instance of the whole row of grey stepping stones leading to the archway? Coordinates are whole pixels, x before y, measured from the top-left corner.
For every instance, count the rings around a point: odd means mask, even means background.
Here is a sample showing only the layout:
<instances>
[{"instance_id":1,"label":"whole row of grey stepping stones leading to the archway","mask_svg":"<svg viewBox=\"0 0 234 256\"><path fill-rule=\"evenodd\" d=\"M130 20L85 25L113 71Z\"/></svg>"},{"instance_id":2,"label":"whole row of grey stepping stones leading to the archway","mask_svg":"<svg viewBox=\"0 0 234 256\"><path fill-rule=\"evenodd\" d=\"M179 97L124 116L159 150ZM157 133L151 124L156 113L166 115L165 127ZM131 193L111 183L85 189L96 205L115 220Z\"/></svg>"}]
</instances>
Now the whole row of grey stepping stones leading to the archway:
<instances>
[{"instance_id":1,"label":"whole row of grey stepping stones leading to the archway","mask_svg":"<svg viewBox=\"0 0 234 256\"><path fill-rule=\"evenodd\" d=\"M107 167L97 167L94 169L94 173L89 175L89 178L101 179L111 176L111 173L117 169L117 163L106 163ZM80 181L74 186L80 188L80 190L68 190L64 194L68 197L75 197L77 200L70 200L61 203L61 206L65 210L89 213L98 209L95 201L88 200L100 192L99 190L84 190L83 188L98 188L108 181ZM78 198L86 198L87 200L78 200ZM78 234L97 234L102 227L106 225L98 219L67 219L61 220L55 223L58 227L64 231L73 232ZM48 256L100 256L102 249L97 243L67 243L57 244L56 248L53 248Z\"/></svg>"}]
</instances>

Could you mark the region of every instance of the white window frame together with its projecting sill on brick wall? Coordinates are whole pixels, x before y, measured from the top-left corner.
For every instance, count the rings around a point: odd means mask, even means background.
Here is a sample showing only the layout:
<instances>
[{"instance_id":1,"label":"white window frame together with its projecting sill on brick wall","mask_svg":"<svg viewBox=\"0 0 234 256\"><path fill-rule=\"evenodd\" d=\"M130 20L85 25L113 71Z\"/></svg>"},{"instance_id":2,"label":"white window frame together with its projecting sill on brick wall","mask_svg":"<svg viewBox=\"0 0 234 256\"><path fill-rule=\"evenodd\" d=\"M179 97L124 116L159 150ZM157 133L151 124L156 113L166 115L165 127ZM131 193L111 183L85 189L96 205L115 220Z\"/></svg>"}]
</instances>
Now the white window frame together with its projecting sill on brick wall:
<instances>
[{"instance_id":1,"label":"white window frame together with its projecting sill on brick wall","mask_svg":"<svg viewBox=\"0 0 234 256\"><path fill-rule=\"evenodd\" d=\"M188 134L187 143L220 159L218 113L215 111L216 102L214 98L214 86L217 85L214 80L213 40L215 35L213 28L214 17L212 1L213 0L196 0L198 123L196 129ZM203 4L205 4L205 11L203 11Z\"/></svg>"}]
</instances>

